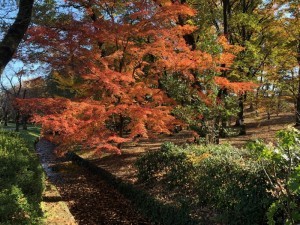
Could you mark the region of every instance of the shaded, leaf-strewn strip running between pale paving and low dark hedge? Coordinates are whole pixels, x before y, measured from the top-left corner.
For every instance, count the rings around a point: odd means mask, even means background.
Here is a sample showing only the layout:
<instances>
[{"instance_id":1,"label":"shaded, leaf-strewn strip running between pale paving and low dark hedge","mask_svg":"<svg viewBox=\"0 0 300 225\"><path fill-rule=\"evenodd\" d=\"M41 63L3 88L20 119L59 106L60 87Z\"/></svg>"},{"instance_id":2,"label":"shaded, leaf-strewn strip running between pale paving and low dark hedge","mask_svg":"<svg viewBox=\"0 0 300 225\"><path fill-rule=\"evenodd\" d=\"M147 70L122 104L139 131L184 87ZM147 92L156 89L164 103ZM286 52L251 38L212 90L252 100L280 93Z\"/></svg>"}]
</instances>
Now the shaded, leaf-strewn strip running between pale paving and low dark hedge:
<instances>
[{"instance_id":1,"label":"shaded, leaf-strewn strip running between pale paving and low dark hedge","mask_svg":"<svg viewBox=\"0 0 300 225\"><path fill-rule=\"evenodd\" d=\"M61 199L79 225L151 224L136 212L131 203L99 176L91 174L53 154L53 145L41 140L37 145L42 163L48 164L49 180L57 187ZM57 224L70 224L65 221Z\"/></svg>"}]
</instances>

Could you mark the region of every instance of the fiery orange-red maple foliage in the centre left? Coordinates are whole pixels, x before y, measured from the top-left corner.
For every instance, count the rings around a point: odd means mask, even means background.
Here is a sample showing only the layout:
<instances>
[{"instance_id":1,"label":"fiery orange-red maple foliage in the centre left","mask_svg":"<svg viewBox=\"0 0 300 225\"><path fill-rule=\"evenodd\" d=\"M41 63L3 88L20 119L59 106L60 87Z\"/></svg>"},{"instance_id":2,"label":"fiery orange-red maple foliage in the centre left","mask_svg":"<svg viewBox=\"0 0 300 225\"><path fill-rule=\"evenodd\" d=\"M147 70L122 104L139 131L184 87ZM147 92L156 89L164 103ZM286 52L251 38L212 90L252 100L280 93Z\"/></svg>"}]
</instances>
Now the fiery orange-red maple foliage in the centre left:
<instances>
[{"instance_id":1,"label":"fiery orange-red maple foliage in the centre left","mask_svg":"<svg viewBox=\"0 0 300 225\"><path fill-rule=\"evenodd\" d=\"M229 65L234 58L225 44L228 51L217 57L191 50L183 36L196 27L178 25L179 17L196 13L187 5L168 0L72 2L87 16L33 27L28 40L48 50L40 60L78 77L81 95L17 100L22 112L42 124L42 135L59 144L60 152L72 146L120 152L120 143L170 133L179 123L170 113L176 103L159 88L160 77L180 73L194 80L193 71L218 70L218 64ZM116 117L129 118L125 137L107 125Z\"/></svg>"}]
</instances>

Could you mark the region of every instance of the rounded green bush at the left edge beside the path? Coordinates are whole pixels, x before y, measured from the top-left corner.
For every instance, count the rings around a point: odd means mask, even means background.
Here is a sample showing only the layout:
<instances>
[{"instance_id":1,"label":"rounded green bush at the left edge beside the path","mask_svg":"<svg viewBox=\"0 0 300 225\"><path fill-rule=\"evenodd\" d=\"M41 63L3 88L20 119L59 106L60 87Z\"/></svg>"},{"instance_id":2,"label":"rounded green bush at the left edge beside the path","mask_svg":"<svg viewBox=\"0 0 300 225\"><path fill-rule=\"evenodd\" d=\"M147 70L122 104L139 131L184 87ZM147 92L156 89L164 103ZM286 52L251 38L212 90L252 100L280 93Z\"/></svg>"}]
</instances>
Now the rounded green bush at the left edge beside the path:
<instances>
[{"instance_id":1,"label":"rounded green bush at the left edge beside the path","mask_svg":"<svg viewBox=\"0 0 300 225\"><path fill-rule=\"evenodd\" d=\"M40 224L43 179L23 139L0 131L0 224Z\"/></svg>"}]
</instances>

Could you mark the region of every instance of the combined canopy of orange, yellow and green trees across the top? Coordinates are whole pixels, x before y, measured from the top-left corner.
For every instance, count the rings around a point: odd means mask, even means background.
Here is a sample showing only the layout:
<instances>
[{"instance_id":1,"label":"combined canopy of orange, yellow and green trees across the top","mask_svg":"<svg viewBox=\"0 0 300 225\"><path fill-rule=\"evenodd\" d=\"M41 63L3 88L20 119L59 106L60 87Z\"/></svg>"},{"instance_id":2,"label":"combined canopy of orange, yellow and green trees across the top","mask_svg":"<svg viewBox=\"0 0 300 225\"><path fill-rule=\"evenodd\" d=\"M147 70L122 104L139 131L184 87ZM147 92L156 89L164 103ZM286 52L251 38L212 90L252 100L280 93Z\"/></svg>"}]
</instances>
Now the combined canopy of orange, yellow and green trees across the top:
<instances>
[{"instance_id":1,"label":"combined canopy of orange, yellow and green trees across the top","mask_svg":"<svg viewBox=\"0 0 300 225\"><path fill-rule=\"evenodd\" d=\"M16 21L26 15L25 32L32 4L22 4ZM177 125L217 142L231 117L243 126L247 97L269 113L265 92L280 101L291 87L296 9L297 1L38 1L18 57L49 66L51 98L17 105L61 149L119 152ZM298 115L299 90L289 89Z\"/></svg>"}]
</instances>

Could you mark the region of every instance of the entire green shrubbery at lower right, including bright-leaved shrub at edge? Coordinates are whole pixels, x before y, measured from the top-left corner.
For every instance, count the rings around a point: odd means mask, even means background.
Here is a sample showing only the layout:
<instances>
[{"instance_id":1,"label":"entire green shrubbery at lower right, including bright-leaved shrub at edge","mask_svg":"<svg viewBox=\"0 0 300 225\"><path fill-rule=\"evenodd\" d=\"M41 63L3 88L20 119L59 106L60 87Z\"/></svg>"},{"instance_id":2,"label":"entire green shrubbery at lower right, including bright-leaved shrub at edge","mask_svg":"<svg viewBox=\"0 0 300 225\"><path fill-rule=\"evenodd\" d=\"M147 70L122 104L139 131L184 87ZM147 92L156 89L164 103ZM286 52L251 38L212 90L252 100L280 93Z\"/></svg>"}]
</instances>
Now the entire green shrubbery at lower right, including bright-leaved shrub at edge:
<instances>
[{"instance_id":1,"label":"entire green shrubbery at lower right, including bright-leaved shrub at edge","mask_svg":"<svg viewBox=\"0 0 300 225\"><path fill-rule=\"evenodd\" d=\"M225 224L299 221L299 132L281 131L278 146L249 144L178 147L164 144L141 157L141 183L162 185L175 201L214 212ZM256 152L256 154L254 154ZM259 156L258 156L259 155ZM206 211L205 210L205 211Z\"/></svg>"}]
</instances>

